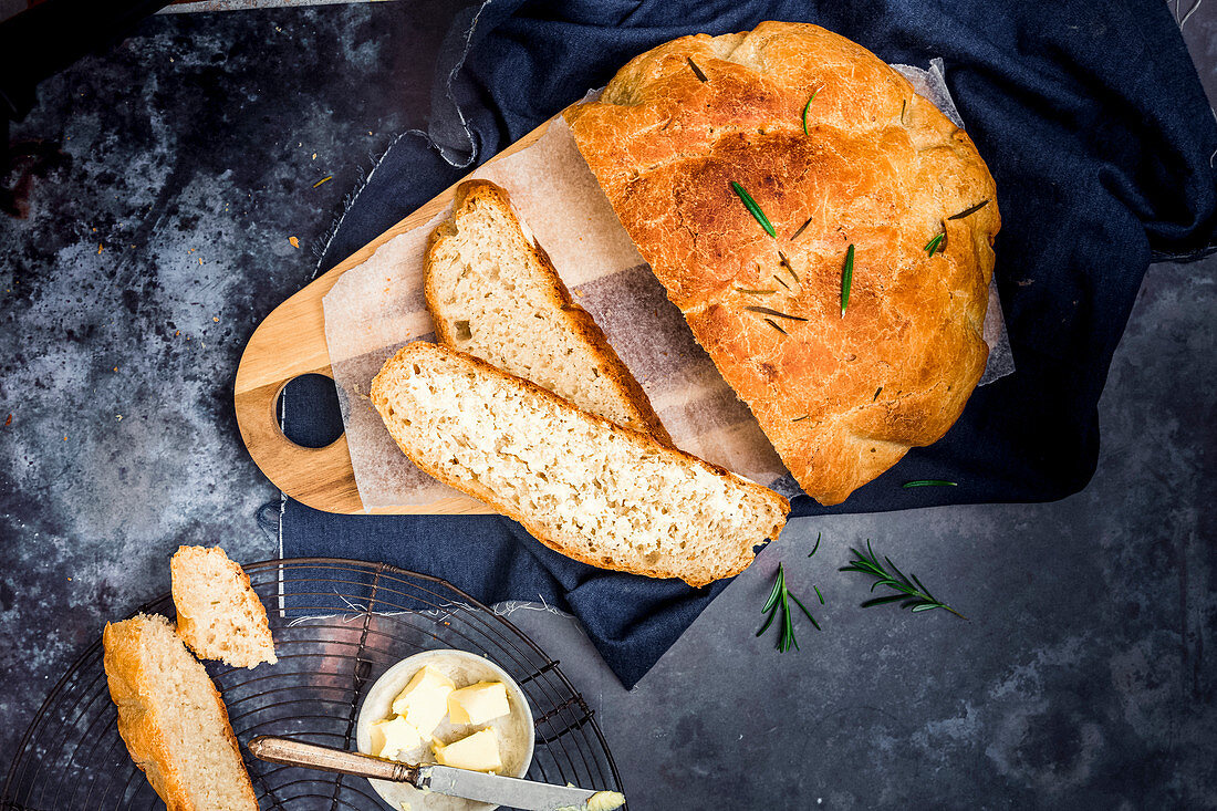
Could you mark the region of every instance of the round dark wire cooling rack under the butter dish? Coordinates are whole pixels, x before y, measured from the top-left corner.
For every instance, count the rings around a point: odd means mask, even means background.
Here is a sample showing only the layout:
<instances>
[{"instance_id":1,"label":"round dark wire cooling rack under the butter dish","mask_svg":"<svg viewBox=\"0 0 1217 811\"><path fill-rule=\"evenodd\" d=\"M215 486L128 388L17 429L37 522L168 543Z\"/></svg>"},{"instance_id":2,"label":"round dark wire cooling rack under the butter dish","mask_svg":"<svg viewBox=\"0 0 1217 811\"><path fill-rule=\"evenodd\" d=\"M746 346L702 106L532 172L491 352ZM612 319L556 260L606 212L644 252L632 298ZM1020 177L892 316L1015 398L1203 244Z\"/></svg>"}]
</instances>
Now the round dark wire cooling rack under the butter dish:
<instances>
[{"instance_id":1,"label":"round dark wire cooling rack under the butter dish","mask_svg":"<svg viewBox=\"0 0 1217 811\"><path fill-rule=\"evenodd\" d=\"M386 564L298 558L246 566L267 606L276 665L206 662L241 742L258 805L282 811L387 806L368 781L259 761L259 734L354 749L368 688L420 650L487 656L528 695L537 746L528 778L621 792L608 745L583 697L511 622L436 577ZM169 594L140 611L173 617ZM10 811L163 809L118 737L99 641L55 686L22 739L0 795Z\"/></svg>"}]
</instances>

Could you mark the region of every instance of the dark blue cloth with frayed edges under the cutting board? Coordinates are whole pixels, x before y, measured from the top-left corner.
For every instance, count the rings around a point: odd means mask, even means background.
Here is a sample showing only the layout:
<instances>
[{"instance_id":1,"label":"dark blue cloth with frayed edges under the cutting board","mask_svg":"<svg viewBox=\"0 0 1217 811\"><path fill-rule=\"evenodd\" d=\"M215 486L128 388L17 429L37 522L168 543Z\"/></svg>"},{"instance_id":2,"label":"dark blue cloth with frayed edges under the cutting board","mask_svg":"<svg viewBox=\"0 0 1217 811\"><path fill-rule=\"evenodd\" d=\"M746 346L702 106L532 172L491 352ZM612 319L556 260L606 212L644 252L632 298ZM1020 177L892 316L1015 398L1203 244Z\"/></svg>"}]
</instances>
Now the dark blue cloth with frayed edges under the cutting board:
<instances>
[{"instance_id":1,"label":"dark blue cloth with frayed edges under the cutting board","mask_svg":"<svg viewBox=\"0 0 1217 811\"><path fill-rule=\"evenodd\" d=\"M428 136L398 140L355 198L332 267L473 164L617 67L668 39L807 21L888 62L946 60L947 84L997 179L996 276L1015 374L977 390L940 442L823 508L793 515L1062 498L1098 459L1097 404L1150 261L1217 242L1217 124L1161 0L527 2L456 19ZM310 407L288 401L307 430ZM958 487L903 490L914 479ZM288 502L288 555L385 560L484 602L544 598L576 614L633 686L722 589L604 572L551 553L505 519L336 516Z\"/></svg>"}]
</instances>

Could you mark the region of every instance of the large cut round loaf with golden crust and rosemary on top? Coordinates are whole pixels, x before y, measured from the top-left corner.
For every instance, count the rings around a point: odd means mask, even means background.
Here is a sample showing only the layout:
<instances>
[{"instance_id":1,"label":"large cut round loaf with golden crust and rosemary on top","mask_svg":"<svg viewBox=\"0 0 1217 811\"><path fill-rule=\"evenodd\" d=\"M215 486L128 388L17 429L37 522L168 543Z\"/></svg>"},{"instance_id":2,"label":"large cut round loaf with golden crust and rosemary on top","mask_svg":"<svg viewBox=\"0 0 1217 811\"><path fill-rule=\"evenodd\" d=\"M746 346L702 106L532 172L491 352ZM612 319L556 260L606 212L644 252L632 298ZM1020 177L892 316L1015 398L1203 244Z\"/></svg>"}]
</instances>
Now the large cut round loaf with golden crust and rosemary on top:
<instances>
[{"instance_id":1,"label":"large cut round loaf with golden crust and rosemary on top","mask_svg":"<svg viewBox=\"0 0 1217 811\"><path fill-rule=\"evenodd\" d=\"M804 492L837 504L958 419L1000 218L971 139L904 77L765 22L655 47L566 118Z\"/></svg>"}]
</instances>

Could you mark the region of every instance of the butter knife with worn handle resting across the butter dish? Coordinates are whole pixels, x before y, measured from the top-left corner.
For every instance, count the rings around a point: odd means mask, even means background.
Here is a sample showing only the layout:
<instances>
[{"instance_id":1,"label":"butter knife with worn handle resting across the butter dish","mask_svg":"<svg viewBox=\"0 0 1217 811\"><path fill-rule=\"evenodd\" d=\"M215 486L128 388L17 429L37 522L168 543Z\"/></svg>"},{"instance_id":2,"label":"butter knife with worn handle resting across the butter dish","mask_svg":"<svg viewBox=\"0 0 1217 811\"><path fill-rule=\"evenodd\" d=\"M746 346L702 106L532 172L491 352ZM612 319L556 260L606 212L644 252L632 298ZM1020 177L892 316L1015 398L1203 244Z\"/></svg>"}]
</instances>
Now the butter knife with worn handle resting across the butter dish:
<instances>
[{"instance_id":1,"label":"butter knife with worn handle resting across the butter dish","mask_svg":"<svg viewBox=\"0 0 1217 811\"><path fill-rule=\"evenodd\" d=\"M338 772L340 774L409 783L417 789L437 794L514 806L527 811L576 811L582 809L611 811L626 801L624 796L615 792L590 792L566 785L535 783L436 764L400 764L343 749L318 746L291 738L258 736L249 742L249 751L253 753L254 757L271 764L304 766L326 772Z\"/></svg>"}]
</instances>

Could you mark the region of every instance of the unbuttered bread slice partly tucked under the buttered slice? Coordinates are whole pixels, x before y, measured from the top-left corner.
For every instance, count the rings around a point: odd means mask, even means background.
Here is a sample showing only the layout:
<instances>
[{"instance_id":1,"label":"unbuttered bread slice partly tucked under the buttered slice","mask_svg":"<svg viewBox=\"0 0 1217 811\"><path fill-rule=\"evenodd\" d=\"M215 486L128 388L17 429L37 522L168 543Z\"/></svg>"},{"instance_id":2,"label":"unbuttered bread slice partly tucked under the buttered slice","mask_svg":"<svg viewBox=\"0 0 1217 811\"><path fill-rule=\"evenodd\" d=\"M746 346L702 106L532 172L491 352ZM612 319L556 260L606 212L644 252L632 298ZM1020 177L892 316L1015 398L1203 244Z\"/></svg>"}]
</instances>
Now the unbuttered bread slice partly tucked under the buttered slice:
<instances>
[{"instance_id":1,"label":"unbuttered bread slice partly tucked under the buttered slice","mask_svg":"<svg viewBox=\"0 0 1217 811\"><path fill-rule=\"evenodd\" d=\"M456 188L452 217L431 235L422 289L441 343L672 444L641 386L571 300L501 188L486 180Z\"/></svg>"}]
</instances>

